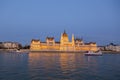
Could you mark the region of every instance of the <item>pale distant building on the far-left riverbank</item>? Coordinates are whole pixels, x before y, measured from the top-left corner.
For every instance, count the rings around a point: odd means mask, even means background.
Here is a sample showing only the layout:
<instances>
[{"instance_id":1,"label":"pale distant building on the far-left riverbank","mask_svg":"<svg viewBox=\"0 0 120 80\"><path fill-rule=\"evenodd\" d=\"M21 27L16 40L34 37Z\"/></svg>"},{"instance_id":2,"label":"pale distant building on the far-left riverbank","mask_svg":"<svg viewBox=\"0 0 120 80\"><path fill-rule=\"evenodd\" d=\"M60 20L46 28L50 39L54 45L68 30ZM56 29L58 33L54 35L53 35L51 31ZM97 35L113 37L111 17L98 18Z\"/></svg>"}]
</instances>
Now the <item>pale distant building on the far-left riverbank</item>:
<instances>
[{"instance_id":1,"label":"pale distant building on the far-left riverbank","mask_svg":"<svg viewBox=\"0 0 120 80\"><path fill-rule=\"evenodd\" d=\"M3 42L2 43L2 47L5 49L19 49L20 45L21 44L17 42Z\"/></svg>"}]
</instances>

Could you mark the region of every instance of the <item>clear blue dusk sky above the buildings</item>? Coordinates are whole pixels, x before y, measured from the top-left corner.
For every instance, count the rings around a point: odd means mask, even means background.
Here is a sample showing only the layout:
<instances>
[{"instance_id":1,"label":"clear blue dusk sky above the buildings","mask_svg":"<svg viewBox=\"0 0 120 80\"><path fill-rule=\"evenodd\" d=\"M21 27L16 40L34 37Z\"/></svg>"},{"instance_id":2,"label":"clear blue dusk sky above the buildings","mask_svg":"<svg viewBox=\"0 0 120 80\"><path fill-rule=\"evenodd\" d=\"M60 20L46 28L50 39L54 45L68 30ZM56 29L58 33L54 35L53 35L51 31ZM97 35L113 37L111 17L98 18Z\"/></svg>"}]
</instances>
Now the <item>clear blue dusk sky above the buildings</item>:
<instances>
[{"instance_id":1,"label":"clear blue dusk sky above the buildings","mask_svg":"<svg viewBox=\"0 0 120 80\"><path fill-rule=\"evenodd\" d=\"M0 0L0 42L59 41L64 30L70 40L120 44L120 0Z\"/></svg>"}]
</instances>

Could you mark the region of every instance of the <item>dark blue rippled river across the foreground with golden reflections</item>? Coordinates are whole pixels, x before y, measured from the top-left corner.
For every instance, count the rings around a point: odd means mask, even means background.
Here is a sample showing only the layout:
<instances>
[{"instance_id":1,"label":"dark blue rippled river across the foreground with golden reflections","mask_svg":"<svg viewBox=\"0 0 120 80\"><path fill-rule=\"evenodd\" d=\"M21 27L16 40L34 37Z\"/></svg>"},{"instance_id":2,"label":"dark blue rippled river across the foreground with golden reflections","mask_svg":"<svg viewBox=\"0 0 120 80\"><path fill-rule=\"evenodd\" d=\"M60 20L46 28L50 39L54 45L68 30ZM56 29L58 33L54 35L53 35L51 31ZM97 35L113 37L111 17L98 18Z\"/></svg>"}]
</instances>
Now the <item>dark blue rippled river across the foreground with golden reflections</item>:
<instances>
[{"instance_id":1,"label":"dark blue rippled river across the foreground with golden reflections","mask_svg":"<svg viewBox=\"0 0 120 80\"><path fill-rule=\"evenodd\" d=\"M120 54L0 52L0 80L120 80Z\"/></svg>"}]
</instances>

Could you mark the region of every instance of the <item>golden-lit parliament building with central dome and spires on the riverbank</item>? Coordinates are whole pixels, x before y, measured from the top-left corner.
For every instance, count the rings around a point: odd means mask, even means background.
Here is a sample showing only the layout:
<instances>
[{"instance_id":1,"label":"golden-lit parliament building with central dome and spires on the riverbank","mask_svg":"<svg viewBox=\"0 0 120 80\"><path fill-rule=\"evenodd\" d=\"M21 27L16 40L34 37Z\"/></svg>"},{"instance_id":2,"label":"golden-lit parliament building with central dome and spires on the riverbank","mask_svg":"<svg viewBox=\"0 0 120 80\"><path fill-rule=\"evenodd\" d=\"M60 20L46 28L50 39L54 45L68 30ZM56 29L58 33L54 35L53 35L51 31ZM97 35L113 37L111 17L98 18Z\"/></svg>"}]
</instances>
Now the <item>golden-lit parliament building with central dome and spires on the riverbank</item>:
<instances>
[{"instance_id":1,"label":"golden-lit parliament building with central dome and spires on the riverbank","mask_svg":"<svg viewBox=\"0 0 120 80\"><path fill-rule=\"evenodd\" d=\"M32 39L30 44L31 51L97 51L98 47L95 42L84 43L82 39L75 39L72 34L72 40L69 41L67 33L61 34L59 42L54 37L46 37L46 42Z\"/></svg>"}]
</instances>

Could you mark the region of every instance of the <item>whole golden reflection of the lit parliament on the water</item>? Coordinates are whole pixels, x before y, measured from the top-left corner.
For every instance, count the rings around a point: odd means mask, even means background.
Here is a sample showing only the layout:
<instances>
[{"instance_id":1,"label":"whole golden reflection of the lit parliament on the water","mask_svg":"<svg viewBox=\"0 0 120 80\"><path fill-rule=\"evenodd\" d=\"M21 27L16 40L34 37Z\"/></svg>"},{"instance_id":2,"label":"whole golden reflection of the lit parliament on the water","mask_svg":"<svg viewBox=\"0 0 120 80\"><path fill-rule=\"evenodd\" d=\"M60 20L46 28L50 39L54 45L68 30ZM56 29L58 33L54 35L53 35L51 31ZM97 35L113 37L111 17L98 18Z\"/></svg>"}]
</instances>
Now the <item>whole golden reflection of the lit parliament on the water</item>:
<instances>
[{"instance_id":1,"label":"whole golden reflection of the lit parliament on the water","mask_svg":"<svg viewBox=\"0 0 120 80\"><path fill-rule=\"evenodd\" d=\"M63 74L93 67L96 72L96 59L85 57L81 53L29 53L29 70L42 69L44 72L54 69L60 70ZM32 72L32 74L34 74ZM36 74L36 73L35 73Z\"/></svg>"}]
</instances>

